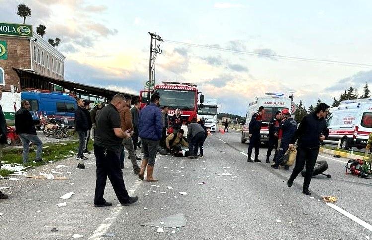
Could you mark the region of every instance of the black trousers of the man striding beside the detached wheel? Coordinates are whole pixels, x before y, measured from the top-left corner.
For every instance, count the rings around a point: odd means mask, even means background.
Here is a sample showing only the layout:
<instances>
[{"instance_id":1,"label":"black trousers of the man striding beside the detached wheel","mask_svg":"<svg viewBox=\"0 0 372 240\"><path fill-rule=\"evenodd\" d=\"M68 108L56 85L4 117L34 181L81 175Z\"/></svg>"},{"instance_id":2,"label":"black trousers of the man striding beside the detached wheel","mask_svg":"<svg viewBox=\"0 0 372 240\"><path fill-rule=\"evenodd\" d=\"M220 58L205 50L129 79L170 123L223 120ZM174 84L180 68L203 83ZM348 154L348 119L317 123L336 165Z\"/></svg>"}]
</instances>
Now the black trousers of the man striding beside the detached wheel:
<instances>
[{"instance_id":1,"label":"black trousers of the man striding beside the detached wheel","mask_svg":"<svg viewBox=\"0 0 372 240\"><path fill-rule=\"evenodd\" d=\"M296 155L296 165L292 171L290 179L294 180L299 173L302 172L303 168L306 165L305 179L303 180L303 190L308 190L312 178L312 173L314 172L314 167L316 159L318 158L319 147L316 148L306 148L306 147L297 147Z\"/></svg>"}]
</instances>

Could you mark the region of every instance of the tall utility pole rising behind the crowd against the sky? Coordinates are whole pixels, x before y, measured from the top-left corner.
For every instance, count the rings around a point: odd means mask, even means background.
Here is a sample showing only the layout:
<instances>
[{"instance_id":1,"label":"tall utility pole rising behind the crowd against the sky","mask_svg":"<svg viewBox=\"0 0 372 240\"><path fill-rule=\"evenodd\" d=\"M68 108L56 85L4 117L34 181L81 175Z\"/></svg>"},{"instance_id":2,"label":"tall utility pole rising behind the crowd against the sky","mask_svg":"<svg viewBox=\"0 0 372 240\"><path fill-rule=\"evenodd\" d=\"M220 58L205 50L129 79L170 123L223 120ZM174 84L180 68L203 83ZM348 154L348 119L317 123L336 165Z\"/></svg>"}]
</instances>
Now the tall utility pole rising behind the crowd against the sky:
<instances>
[{"instance_id":1,"label":"tall utility pole rising behind the crowd against the sky","mask_svg":"<svg viewBox=\"0 0 372 240\"><path fill-rule=\"evenodd\" d=\"M149 60L149 81L147 82L148 90L152 90L155 86L155 69L156 69L156 56L157 54L161 54L162 50L160 49L160 44L163 42L162 38L157 35L156 33L149 32L151 37L150 42L150 60ZM153 42L155 42L153 44ZM153 53L153 55L152 55ZM148 93L148 101L150 97L150 92Z\"/></svg>"}]
</instances>

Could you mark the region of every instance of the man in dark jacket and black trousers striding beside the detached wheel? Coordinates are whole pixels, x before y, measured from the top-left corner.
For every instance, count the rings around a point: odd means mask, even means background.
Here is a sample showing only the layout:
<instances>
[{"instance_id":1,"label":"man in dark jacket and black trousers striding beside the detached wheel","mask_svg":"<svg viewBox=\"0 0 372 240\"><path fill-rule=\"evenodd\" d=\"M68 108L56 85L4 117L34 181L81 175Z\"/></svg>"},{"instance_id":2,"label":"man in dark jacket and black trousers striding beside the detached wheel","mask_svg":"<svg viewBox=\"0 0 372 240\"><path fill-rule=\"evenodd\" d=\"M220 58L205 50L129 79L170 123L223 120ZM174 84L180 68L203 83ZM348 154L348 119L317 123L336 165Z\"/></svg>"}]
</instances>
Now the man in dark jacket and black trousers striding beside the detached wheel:
<instances>
[{"instance_id":1,"label":"man in dark jacket and black trousers striding beside the detached wheel","mask_svg":"<svg viewBox=\"0 0 372 240\"><path fill-rule=\"evenodd\" d=\"M287 181L287 185L288 187L292 186L293 181L306 164L306 173L305 179L303 180L302 191L302 193L306 195L311 195L309 186L316 159L318 158L320 142L324 141L329 134L325 122L328 111L329 106L325 103L320 103L314 112L306 115L296 130L292 144L289 145L290 148L293 148L293 143L295 143L296 139L298 139L296 165L289 180Z\"/></svg>"}]
</instances>

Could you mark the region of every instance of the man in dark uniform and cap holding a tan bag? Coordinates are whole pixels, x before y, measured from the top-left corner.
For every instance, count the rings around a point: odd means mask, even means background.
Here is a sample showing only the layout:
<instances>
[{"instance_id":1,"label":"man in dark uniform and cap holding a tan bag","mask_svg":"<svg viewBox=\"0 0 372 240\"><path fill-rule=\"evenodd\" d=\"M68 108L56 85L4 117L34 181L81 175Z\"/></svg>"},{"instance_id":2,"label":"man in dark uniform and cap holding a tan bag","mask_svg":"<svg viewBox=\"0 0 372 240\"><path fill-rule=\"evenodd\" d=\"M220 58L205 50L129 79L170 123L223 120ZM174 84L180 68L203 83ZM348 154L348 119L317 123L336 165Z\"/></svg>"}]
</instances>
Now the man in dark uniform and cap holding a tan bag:
<instances>
[{"instance_id":1,"label":"man in dark uniform and cap holding a tan bag","mask_svg":"<svg viewBox=\"0 0 372 240\"><path fill-rule=\"evenodd\" d=\"M275 159L275 163L271 165L272 168L276 169L281 164L281 158L288 150L288 146L291 143L297 129L297 122L291 117L291 113L288 111L288 109L283 109L282 116L283 120L279 125L279 130L282 131L282 140L280 142L279 152L277 158ZM288 165L284 166L284 169L288 170L288 168Z\"/></svg>"}]
</instances>

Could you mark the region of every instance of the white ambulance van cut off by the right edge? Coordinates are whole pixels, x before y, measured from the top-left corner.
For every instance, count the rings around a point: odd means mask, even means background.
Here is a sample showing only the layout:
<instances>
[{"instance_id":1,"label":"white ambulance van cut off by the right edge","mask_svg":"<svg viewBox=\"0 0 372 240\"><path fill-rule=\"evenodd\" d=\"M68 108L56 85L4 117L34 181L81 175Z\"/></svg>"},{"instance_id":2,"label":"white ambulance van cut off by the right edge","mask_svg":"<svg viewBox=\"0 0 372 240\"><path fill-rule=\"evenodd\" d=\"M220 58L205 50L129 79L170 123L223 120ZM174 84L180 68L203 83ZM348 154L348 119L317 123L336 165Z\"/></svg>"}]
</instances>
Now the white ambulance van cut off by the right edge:
<instances>
[{"instance_id":1,"label":"white ambulance van cut off by the right edge","mask_svg":"<svg viewBox=\"0 0 372 240\"><path fill-rule=\"evenodd\" d=\"M341 140L341 148L365 148L372 131L372 98L345 100L327 119L329 137L325 142Z\"/></svg>"}]
</instances>

